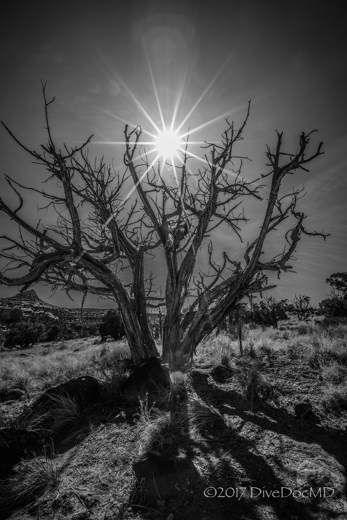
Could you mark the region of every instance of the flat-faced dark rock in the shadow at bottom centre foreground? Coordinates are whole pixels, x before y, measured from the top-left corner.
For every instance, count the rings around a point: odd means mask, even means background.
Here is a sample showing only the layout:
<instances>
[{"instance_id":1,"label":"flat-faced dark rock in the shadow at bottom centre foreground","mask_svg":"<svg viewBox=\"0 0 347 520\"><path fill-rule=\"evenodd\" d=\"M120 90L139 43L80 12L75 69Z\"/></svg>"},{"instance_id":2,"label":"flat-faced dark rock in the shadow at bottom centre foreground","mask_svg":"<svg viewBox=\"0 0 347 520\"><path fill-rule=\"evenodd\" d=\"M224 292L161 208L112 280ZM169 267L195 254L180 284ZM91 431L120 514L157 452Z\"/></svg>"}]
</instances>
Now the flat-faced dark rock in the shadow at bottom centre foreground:
<instances>
[{"instance_id":1,"label":"flat-faced dark rock in the shadow at bottom centre foreground","mask_svg":"<svg viewBox=\"0 0 347 520\"><path fill-rule=\"evenodd\" d=\"M197 459L171 457L158 452L148 453L134 462L133 470L137 482L156 499L181 496L201 480Z\"/></svg>"}]
</instances>

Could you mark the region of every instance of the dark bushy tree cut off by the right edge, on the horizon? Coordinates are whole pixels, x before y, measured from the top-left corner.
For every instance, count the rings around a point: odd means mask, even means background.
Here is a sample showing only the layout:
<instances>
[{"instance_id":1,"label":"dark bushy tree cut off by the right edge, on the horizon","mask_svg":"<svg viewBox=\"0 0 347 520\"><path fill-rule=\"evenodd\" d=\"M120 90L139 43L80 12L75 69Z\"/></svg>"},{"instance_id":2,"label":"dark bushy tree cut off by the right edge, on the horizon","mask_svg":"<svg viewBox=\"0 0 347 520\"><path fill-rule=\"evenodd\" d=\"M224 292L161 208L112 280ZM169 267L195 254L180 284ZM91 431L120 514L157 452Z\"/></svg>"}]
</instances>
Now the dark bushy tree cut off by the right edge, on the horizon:
<instances>
[{"instance_id":1,"label":"dark bushy tree cut off by the right edge, on the horizon","mask_svg":"<svg viewBox=\"0 0 347 520\"><path fill-rule=\"evenodd\" d=\"M332 290L326 300L319 303L320 313L330 322L347 319L347 271L334 272L326 283Z\"/></svg>"}]
</instances>

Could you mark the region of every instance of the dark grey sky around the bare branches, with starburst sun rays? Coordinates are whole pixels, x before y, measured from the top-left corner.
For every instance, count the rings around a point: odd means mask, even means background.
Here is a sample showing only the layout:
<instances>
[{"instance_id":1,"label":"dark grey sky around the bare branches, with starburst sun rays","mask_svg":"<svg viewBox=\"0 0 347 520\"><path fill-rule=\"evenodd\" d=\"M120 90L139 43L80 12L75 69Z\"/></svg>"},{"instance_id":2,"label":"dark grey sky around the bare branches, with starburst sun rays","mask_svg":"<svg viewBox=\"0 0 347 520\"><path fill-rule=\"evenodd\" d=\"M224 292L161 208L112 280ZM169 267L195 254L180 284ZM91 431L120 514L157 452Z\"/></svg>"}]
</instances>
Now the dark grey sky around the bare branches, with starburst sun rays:
<instances>
[{"instance_id":1,"label":"dark grey sky around the bare branches, with starburst sun rays","mask_svg":"<svg viewBox=\"0 0 347 520\"><path fill-rule=\"evenodd\" d=\"M310 146L314 153L323 141L324 155L310 164L309 173L299 171L286 178L282 194L304 185L306 196L298 202L298 210L307 215L306 228L330 236L326 242L321 237L303 237L293 263L296 274L283 273L277 281L269 276L269 283L277 283L271 293L278 299L304 293L317 305L329 291L325 279L332 272L347 270L343 7L342 2L319 0L215 5L204 1L16 3L8 8L2 24L0 119L25 146L38 150L46 142L41 80L47 82L47 96L55 96L49 117L56 143L81 145L93 134L89 157L114 159L122 172L125 122L155 134L156 126L161 128L153 84L162 119L169 126L181 92L174 127L183 122L180 132L198 128L190 134L192 141L218 141L225 129L224 117L229 115L239 126L251 100L249 121L237 149L251 159L242 169L249 180L269 171L264 152L266 145L275 148L276 130L284 132L283 149L291 152L298 149L302 131L318 129ZM199 157L205 153L200 145L192 144L189 150ZM1 128L0 152L1 197L15 208L17 199L4 174L36 189L42 189L47 175ZM198 162L193 164L199 167ZM216 261L223 251L242 258L245 244L256 237L261 225L267 193L265 187L263 202L245 201L250 220L242 225L243 243L226 227L214 231ZM37 211L43 205L37 194L23 194L23 218L32 224L52 218L49 211ZM5 235L18 236L1 212L0 226ZM283 249L287 229L282 224L267 240L268 259L271 252ZM161 255L146 268L158 276L158 285L164 283ZM81 301L79 294L71 302L65 293L52 295L39 284L34 288L55 305L78 306ZM0 297L16 293L15 287L0 286ZM112 303L88 296L85 306Z\"/></svg>"}]
</instances>

